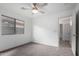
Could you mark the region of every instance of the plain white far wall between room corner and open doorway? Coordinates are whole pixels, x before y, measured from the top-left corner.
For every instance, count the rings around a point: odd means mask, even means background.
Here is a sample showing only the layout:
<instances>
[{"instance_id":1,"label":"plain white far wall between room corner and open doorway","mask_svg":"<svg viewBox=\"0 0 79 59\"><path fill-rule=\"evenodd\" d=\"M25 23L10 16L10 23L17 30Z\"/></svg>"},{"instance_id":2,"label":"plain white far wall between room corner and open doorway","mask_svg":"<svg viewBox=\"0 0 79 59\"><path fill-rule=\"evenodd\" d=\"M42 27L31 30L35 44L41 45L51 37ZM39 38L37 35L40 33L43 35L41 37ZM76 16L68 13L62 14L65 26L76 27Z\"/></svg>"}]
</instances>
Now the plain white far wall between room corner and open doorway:
<instances>
[{"instance_id":1,"label":"plain white far wall between room corner and open doorway","mask_svg":"<svg viewBox=\"0 0 79 59\"><path fill-rule=\"evenodd\" d=\"M50 46L59 46L59 17L69 16L72 10L56 14L38 15L33 19L34 42Z\"/></svg>"}]
</instances>

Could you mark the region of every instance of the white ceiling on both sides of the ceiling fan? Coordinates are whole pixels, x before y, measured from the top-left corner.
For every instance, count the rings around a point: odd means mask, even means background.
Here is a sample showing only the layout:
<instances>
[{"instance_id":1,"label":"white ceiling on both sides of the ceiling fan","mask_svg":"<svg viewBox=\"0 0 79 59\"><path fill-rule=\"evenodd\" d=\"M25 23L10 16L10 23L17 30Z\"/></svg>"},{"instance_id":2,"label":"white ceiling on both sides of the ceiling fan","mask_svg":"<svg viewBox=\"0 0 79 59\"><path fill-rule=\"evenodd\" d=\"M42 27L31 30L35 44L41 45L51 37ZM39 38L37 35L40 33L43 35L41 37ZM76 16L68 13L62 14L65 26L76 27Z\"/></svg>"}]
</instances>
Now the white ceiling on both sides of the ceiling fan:
<instances>
[{"instance_id":1,"label":"white ceiling on both sides of the ceiling fan","mask_svg":"<svg viewBox=\"0 0 79 59\"><path fill-rule=\"evenodd\" d=\"M42 10L45 11L45 14L54 14L66 10L73 10L75 6L75 3L48 3ZM21 7L30 7L30 9L22 10ZM26 16L32 15L31 3L0 3L0 10L8 10Z\"/></svg>"}]
</instances>

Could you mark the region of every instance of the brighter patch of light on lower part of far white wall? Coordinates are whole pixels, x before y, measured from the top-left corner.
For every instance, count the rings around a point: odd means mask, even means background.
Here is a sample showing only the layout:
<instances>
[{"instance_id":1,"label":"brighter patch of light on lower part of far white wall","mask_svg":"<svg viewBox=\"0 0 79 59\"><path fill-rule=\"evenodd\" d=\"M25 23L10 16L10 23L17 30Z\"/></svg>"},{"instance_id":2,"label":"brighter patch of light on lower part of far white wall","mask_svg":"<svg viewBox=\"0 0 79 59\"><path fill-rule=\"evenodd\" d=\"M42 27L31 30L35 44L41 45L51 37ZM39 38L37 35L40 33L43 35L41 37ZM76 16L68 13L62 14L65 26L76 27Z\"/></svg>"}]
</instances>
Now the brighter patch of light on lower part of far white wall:
<instances>
[{"instance_id":1,"label":"brighter patch of light on lower part of far white wall","mask_svg":"<svg viewBox=\"0 0 79 59\"><path fill-rule=\"evenodd\" d=\"M33 32L35 42L58 47L59 39L57 32L37 25L34 25Z\"/></svg>"}]
</instances>

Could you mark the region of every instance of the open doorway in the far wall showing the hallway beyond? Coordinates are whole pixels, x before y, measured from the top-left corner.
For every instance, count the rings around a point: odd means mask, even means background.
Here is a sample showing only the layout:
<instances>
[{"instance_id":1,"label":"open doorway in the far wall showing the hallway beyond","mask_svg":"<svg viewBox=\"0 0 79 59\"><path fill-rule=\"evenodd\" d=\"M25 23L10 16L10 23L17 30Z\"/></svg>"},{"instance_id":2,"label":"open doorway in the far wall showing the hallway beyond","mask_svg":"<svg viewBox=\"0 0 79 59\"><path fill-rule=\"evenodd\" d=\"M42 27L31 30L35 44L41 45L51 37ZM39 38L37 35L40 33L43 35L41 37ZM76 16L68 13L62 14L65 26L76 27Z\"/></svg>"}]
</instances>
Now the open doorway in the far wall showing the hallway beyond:
<instances>
[{"instance_id":1,"label":"open doorway in the far wall showing the hallway beyond","mask_svg":"<svg viewBox=\"0 0 79 59\"><path fill-rule=\"evenodd\" d=\"M59 47L71 47L71 16L59 18Z\"/></svg>"}]
</instances>

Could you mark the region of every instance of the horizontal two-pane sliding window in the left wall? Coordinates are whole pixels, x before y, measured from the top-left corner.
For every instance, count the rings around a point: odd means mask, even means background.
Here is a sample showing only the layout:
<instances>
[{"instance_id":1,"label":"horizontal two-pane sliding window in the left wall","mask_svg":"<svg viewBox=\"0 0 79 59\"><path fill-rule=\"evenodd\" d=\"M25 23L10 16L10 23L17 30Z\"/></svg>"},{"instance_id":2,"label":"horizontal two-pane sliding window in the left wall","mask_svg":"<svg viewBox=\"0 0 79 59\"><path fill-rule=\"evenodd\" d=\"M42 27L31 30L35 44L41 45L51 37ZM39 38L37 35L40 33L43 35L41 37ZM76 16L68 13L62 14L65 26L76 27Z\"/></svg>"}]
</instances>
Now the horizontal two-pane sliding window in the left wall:
<instances>
[{"instance_id":1,"label":"horizontal two-pane sliding window in the left wall","mask_svg":"<svg viewBox=\"0 0 79 59\"><path fill-rule=\"evenodd\" d=\"M2 35L24 34L24 21L2 15Z\"/></svg>"}]
</instances>

